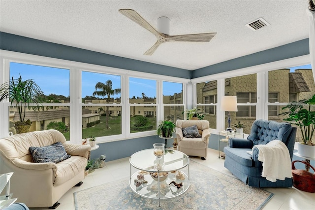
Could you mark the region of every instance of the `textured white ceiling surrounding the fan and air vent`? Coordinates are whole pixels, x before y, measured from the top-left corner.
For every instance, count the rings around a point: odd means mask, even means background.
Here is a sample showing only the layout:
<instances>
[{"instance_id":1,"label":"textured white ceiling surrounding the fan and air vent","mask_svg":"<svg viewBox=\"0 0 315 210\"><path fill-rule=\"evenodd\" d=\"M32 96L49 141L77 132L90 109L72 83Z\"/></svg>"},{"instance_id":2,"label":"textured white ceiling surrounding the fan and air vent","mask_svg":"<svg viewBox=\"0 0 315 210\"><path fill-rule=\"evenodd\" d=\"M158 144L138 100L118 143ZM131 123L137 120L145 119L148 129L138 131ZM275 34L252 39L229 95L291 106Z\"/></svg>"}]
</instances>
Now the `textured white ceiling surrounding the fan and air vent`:
<instances>
[{"instance_id":1,"label":"textured white ceiling surrounding the fan and air vent","mask_svg":"<svg viewBox=\"0 0 315 210\"><path fill-rule=\"evenodd\" d=\"M210 42L163 43L118 12L137 11L170 35L218 34ZM195 70L309 37L307 0L0 0L0 31L97 52ZM263 17L271 25L245 24Z\"/></svg>"}]
</instances>

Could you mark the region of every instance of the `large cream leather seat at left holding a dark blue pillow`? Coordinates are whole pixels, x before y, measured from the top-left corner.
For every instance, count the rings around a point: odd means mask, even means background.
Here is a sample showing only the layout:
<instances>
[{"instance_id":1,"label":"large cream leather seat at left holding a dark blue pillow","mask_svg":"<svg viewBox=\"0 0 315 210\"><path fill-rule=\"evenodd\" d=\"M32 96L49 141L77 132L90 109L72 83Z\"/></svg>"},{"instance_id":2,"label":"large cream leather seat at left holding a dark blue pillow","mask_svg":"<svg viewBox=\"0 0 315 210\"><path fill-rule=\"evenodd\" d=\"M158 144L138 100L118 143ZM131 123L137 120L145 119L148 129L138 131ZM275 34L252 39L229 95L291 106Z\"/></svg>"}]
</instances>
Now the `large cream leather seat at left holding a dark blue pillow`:
<instances>
[{"instance_id":1,"label":"large cream leather seat at left holding a dark blue pillow","mask_svg":"<svg viewBox=\"0 0 315 210\"><path fill-rule=\"evenodd\" d=\"M41 149L52 144L59 146L58 150L62 150L66 159L58 163L34 162L30 147ZM17 202L25 203L30 208L54 209L60 204L58 200L64 193L82 183L90 150L88 145L66 142L63 134L57 130L5 137L0 139L0 173L14 172L10 179L10 192L18 198ZM48 158L57 157L56 154L58 151L48 155Z\"/></svg>"}]
</instances>

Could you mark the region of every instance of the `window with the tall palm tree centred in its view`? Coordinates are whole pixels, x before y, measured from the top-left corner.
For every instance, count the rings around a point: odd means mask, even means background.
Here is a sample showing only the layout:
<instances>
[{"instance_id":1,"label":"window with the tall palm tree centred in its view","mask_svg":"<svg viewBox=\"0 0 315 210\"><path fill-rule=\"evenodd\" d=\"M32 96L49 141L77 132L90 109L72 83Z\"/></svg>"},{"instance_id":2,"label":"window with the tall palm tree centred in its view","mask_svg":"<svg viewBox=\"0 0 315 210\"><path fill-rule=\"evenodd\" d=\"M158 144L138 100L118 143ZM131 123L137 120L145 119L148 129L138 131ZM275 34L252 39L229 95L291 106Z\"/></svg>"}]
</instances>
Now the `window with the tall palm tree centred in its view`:
<instances>
[{"instance_id":1,"label":"window with the tall palm tree centred in its view","mask_svg":"<svg viewBox=\"0 0 315 210\"><path fill-rule=\"evenodd\" d=\"M82 71L81 92L82 138L122 134L121 76Z\"/></svg>"}]
</instances>

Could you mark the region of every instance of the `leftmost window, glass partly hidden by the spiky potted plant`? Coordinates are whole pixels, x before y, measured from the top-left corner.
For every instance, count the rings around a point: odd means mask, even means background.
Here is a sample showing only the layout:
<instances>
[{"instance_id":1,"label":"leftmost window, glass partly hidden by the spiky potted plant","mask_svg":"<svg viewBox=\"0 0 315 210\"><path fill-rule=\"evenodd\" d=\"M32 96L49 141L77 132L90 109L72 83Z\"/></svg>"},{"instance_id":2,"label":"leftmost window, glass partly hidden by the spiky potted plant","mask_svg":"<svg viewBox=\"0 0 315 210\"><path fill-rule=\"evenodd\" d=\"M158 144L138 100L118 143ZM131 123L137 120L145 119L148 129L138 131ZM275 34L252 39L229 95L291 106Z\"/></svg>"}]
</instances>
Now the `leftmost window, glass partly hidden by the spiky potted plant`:
<instances>
[{"instance_id":1,"label":"leftmost window, glass partly hidden by the spiky potted plant","mask_svg":"<svg viewBox=\"0 0 315 210\"><path fill-rule=\"evenodd\" d=\"M70 136L70 71L68 69L10 62L10 78L22 80L32 79L42 90L43 105L40 110L26 109L25 120L29 119L32 126L29 131L57 129L69 140ZM19 121L17 107L9 107L9 121ZM13 123L9 123L13 125ZM16 133L13 127L10 131Z\"/></svg>"}]
</instances>

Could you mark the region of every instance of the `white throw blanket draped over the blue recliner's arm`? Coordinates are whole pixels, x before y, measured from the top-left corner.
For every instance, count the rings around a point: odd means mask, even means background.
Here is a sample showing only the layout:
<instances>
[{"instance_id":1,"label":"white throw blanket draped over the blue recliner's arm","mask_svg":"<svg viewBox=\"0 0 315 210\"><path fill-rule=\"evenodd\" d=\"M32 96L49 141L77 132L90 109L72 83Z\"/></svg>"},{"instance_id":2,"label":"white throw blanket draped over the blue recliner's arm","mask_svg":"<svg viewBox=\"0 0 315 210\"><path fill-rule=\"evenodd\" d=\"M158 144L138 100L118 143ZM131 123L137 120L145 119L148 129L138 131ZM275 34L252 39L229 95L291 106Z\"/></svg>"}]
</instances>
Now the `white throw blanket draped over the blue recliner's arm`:
<instances>
[{"instance_id":1,"label":"white throw blanket draped over the blue recliner's arm","mask_svg":"<svg viewBox=\"0 0 315 210\"><path fill-rule=\"evenodd\" d=\"M267 144L258 144L252 147L258 148L258 160L262 162L262 177L275 182L277 179L291 178L291 158L284 142L272 140Z\"/></svg>"}]
</instances>

